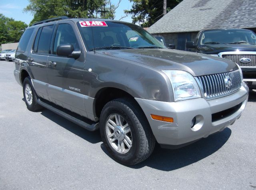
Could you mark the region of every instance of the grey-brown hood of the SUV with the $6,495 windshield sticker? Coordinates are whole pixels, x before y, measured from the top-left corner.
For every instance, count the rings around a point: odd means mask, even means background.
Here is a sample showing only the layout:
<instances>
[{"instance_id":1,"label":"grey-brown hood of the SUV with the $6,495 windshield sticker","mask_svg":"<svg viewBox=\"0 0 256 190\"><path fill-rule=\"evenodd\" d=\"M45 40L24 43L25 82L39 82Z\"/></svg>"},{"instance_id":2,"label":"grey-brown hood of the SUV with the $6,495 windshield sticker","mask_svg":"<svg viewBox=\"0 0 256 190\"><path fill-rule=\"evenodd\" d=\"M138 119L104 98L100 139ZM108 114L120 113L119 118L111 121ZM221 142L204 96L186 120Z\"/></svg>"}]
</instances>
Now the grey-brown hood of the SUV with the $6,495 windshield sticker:
<instances>
[{"instance_id":1,"label":"grey-brown hood of the SUV with the $6,495 windshield sticker","mask_svg":"<svg viewBox=\"0 0 256 190\"><path fill-rule=\"evenodd\" d=\"M183 70L193 76L237 70L232 61L211 55L171 49L123 49L97 53L135 61L160 70Z\"/></svg>"}]
</instances>

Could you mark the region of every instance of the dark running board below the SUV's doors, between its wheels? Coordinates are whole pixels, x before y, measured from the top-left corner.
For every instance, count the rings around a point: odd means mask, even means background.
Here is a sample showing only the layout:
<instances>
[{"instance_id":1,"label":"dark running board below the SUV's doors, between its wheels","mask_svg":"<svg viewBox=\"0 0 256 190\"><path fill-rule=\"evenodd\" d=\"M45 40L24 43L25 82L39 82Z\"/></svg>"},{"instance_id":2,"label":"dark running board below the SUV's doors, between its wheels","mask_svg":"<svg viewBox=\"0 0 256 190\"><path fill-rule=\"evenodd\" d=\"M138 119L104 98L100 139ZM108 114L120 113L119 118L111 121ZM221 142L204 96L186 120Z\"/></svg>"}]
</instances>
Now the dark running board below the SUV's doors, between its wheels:
<instances>
[{"instance_id":1,"label":"dark running board below the SUV's doors, between its wheels","mask_svg":"<svg viewBox=\"0 0 256 190\"><path fill-rule=\"evenodd\" d=\"M72 121L73 123L76 123L77 125L83 127L84 129L87 129L89 131L96 131L97 129L99 129L99 123L94 123L93 121L89 121L88 119L88 123L82 121L81 119L76 118L75 116L71 116L70 114L58 109L57 107L59 106L55 106L53 105L51 102L46 103L48 101L42 101L40 99L37 100L37 103L41 106L43 106L44 108L54 112L55 114L58 114L60 116L62 116L65 119L68 119L69 121ZM70 111L68 111L70 112ZM75 114L72 114L75 115ZM86 120L86 118L84 119Z\"/></svg>"}]
</instances>

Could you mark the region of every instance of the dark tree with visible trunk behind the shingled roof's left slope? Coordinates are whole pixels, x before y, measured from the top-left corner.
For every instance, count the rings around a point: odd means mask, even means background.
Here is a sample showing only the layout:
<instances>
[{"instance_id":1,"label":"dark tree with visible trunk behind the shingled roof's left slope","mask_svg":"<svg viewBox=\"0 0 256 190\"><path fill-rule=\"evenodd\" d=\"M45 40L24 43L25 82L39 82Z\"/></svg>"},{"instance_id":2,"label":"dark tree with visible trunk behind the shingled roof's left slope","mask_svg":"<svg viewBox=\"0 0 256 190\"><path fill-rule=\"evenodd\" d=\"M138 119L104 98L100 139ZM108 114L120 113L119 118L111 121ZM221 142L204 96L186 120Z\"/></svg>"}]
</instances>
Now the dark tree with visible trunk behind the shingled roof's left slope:
<instances>
[{"instance_id":1,"label":"dark tree with visible trunk behind the shingled roof's left slope","mask_svg":"<svg viewBox=\"0 0 256 190\"><path fill-rule=\"evenodd\" d=\"M150 27L163 16L164 0L129 0L133 2L126 14L132 15L132 23L140 23L142 27ZM167 0L167 12L172 10L182 0Z\"/></svg>"}]
</instances>

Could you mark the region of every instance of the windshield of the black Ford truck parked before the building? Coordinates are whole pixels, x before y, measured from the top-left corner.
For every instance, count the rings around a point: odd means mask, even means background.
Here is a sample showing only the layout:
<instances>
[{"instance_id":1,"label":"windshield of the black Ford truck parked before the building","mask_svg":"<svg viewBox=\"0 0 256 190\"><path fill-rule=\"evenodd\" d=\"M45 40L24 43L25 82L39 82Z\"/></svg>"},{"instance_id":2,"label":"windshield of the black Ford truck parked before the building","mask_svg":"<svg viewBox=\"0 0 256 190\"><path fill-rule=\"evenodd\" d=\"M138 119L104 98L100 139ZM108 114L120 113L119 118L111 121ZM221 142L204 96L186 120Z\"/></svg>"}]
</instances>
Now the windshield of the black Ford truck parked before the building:
<instances>
[{"instance_id":1,"label":"windshield of the black Ford truck parked before the building","mask_svg":"<svg viewBox=\"0 0 256 190\"><path fill-rule=\"evenodd\" d=\"M256 45L256 35L250 30L212 30L204 31L200 45L204 44L253 44Z\"/></svg>"}]
</instances>

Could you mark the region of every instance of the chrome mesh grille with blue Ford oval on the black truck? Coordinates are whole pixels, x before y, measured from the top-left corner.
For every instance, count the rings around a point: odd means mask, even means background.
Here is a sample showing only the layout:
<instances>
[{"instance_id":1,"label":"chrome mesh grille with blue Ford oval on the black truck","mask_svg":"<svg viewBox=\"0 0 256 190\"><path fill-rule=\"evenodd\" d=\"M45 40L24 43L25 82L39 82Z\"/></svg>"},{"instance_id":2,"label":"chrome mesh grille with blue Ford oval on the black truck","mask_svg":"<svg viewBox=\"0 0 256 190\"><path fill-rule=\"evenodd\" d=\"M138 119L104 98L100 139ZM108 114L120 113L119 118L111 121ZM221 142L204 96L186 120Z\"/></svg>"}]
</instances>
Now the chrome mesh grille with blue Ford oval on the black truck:
<instances>
[{"instance_id":1,"label":"chrome mesh grille with blue Ford oval on the black truck","mask_svg":"<svg viewBox=\"0 0 256 190\"><path fill-rule=\"evenodd\" d=\"M256 54L222 54L222 58L235 62L240 67L256 67ZM240 59L249 58L249 63L242 63Z\"/></svg>"}]
</instances>

